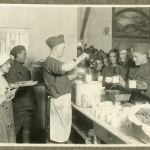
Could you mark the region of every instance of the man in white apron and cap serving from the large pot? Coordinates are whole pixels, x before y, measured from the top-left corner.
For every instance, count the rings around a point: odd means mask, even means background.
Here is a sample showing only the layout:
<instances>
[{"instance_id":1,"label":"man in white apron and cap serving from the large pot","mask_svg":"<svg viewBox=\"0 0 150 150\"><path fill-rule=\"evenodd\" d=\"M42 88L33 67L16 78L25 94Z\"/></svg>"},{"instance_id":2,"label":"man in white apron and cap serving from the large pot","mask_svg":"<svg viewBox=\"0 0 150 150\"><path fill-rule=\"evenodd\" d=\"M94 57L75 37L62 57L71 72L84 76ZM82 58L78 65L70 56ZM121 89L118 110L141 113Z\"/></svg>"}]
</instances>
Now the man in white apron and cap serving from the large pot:
<instances>
[{"instance_id":1,"label":"man in white apron and cap serving from the large pot","mask_svg":"<svg viewBox=\"0 0 150 150\"><path fill-rule=\"evenodd\" d=\"M69 138L72 122L71 111L71 83L77 74L67 75L79 62L88 57L82 53L79 57L68 62L61 62L59 58L65 53L64 36L50 37L46 40L50 55L43 63L43 76L48 101L50 101L50 121L47 129L49 137L55 142L66 142Z\"/></svg>"}]
</instances>

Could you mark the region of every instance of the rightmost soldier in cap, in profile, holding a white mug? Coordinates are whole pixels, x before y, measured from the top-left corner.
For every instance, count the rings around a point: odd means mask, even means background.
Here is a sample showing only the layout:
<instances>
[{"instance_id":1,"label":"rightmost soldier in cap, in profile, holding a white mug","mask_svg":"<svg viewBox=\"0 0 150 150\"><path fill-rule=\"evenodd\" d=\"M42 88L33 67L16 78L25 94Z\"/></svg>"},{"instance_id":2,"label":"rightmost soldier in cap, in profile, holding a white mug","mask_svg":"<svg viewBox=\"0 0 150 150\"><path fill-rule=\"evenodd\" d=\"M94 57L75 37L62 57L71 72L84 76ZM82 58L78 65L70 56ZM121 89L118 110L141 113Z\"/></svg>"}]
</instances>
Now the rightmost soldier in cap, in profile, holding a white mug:
<instances>
[{"instance_id":1,"label":"rightmost soldier in cap, in profile, holding a white mug","mask_svg":"<svg viewBox=\"0 0 150 150\"><path fill-rule=\"evenodd\" d=\"M150 62L148 60L149 46L146 43L136 43L133 46L133 61L134 67L130 68L128 74L129 80L136 80L136 88L129 88L121 76L119 76L120 84L124 89L131 93L130 102L150 102Z\"/></svg>"}]
</instances>

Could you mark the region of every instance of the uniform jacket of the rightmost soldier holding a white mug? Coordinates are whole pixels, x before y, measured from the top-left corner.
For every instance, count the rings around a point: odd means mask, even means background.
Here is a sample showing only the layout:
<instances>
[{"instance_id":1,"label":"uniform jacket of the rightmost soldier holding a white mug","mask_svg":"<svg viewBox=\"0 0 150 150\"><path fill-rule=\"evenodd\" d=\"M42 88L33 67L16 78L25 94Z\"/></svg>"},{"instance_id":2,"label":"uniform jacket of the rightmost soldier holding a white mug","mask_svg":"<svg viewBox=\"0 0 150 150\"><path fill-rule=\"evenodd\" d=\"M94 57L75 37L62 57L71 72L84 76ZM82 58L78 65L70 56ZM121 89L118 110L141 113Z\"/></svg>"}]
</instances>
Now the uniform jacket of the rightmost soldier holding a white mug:
<instances>
[{"instance_id":1,"label":"uniform jacket of the rightmost soldier holding a white mug","mask_svg":"<svg viewBox=\"0 0 150 150\"><path fill-rule=\"evenodd\" d=\"M130 89L128 83L125 86L125 90L131 93L130 102L135 104L136 102L150 102L150 62L132 67L129 71L128 80L144 81L148 84L148 90L141 94L140 89Z\"/></svg>"}]
</instances>

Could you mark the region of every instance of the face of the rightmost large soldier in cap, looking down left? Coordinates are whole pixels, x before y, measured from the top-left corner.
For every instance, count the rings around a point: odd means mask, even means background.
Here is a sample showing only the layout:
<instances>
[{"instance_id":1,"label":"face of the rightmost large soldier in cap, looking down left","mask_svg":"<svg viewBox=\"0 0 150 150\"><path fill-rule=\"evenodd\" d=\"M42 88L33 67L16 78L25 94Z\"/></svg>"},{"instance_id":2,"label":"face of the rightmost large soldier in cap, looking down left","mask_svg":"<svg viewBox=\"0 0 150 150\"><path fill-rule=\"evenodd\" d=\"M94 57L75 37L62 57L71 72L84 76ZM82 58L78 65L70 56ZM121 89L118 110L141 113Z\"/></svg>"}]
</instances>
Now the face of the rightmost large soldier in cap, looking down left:
<instances>
[{"instance_id":1,"label":"face of the rightmost large soldier in cap, looking down left","mask_svg":"<svg viewBox=\"0 0 150 150\"><path fill-rule=\"evenodd\" d=\"M144 64L145 54L133 52L133 61L135 62L136 66Z\"/></svg>"}]
</instances>

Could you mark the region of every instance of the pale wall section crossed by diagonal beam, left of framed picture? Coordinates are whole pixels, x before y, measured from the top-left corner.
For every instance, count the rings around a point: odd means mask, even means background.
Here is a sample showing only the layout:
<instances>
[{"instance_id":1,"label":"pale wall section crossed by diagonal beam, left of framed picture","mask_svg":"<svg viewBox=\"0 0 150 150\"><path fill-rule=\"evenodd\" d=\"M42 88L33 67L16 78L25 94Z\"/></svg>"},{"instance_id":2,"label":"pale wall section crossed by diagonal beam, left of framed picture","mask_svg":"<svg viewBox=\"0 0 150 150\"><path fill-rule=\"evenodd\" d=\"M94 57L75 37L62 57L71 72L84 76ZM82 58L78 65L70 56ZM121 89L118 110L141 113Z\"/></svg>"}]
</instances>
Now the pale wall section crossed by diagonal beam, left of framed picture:
<instances>
[{"instance_id":1,"label":"pale wall section crossed by diagonal beam, left of framed picture","mask_svg":"<svg viewBox=\"0 0 150 150\"><path fill-rule=\"evenodd\" d=\"M85 8L79 8L78 13ZM78 19L78 35L81 33L83 17ZM103 29L109 27L112 31L112 8L111 7L92 7L87 22L84 41L87 47L93 45L97 49L103 49L108 52L112 45L112 34L103 36ZM78 36L79 37L79 36Z\"/></svg>"}]
</instances>

